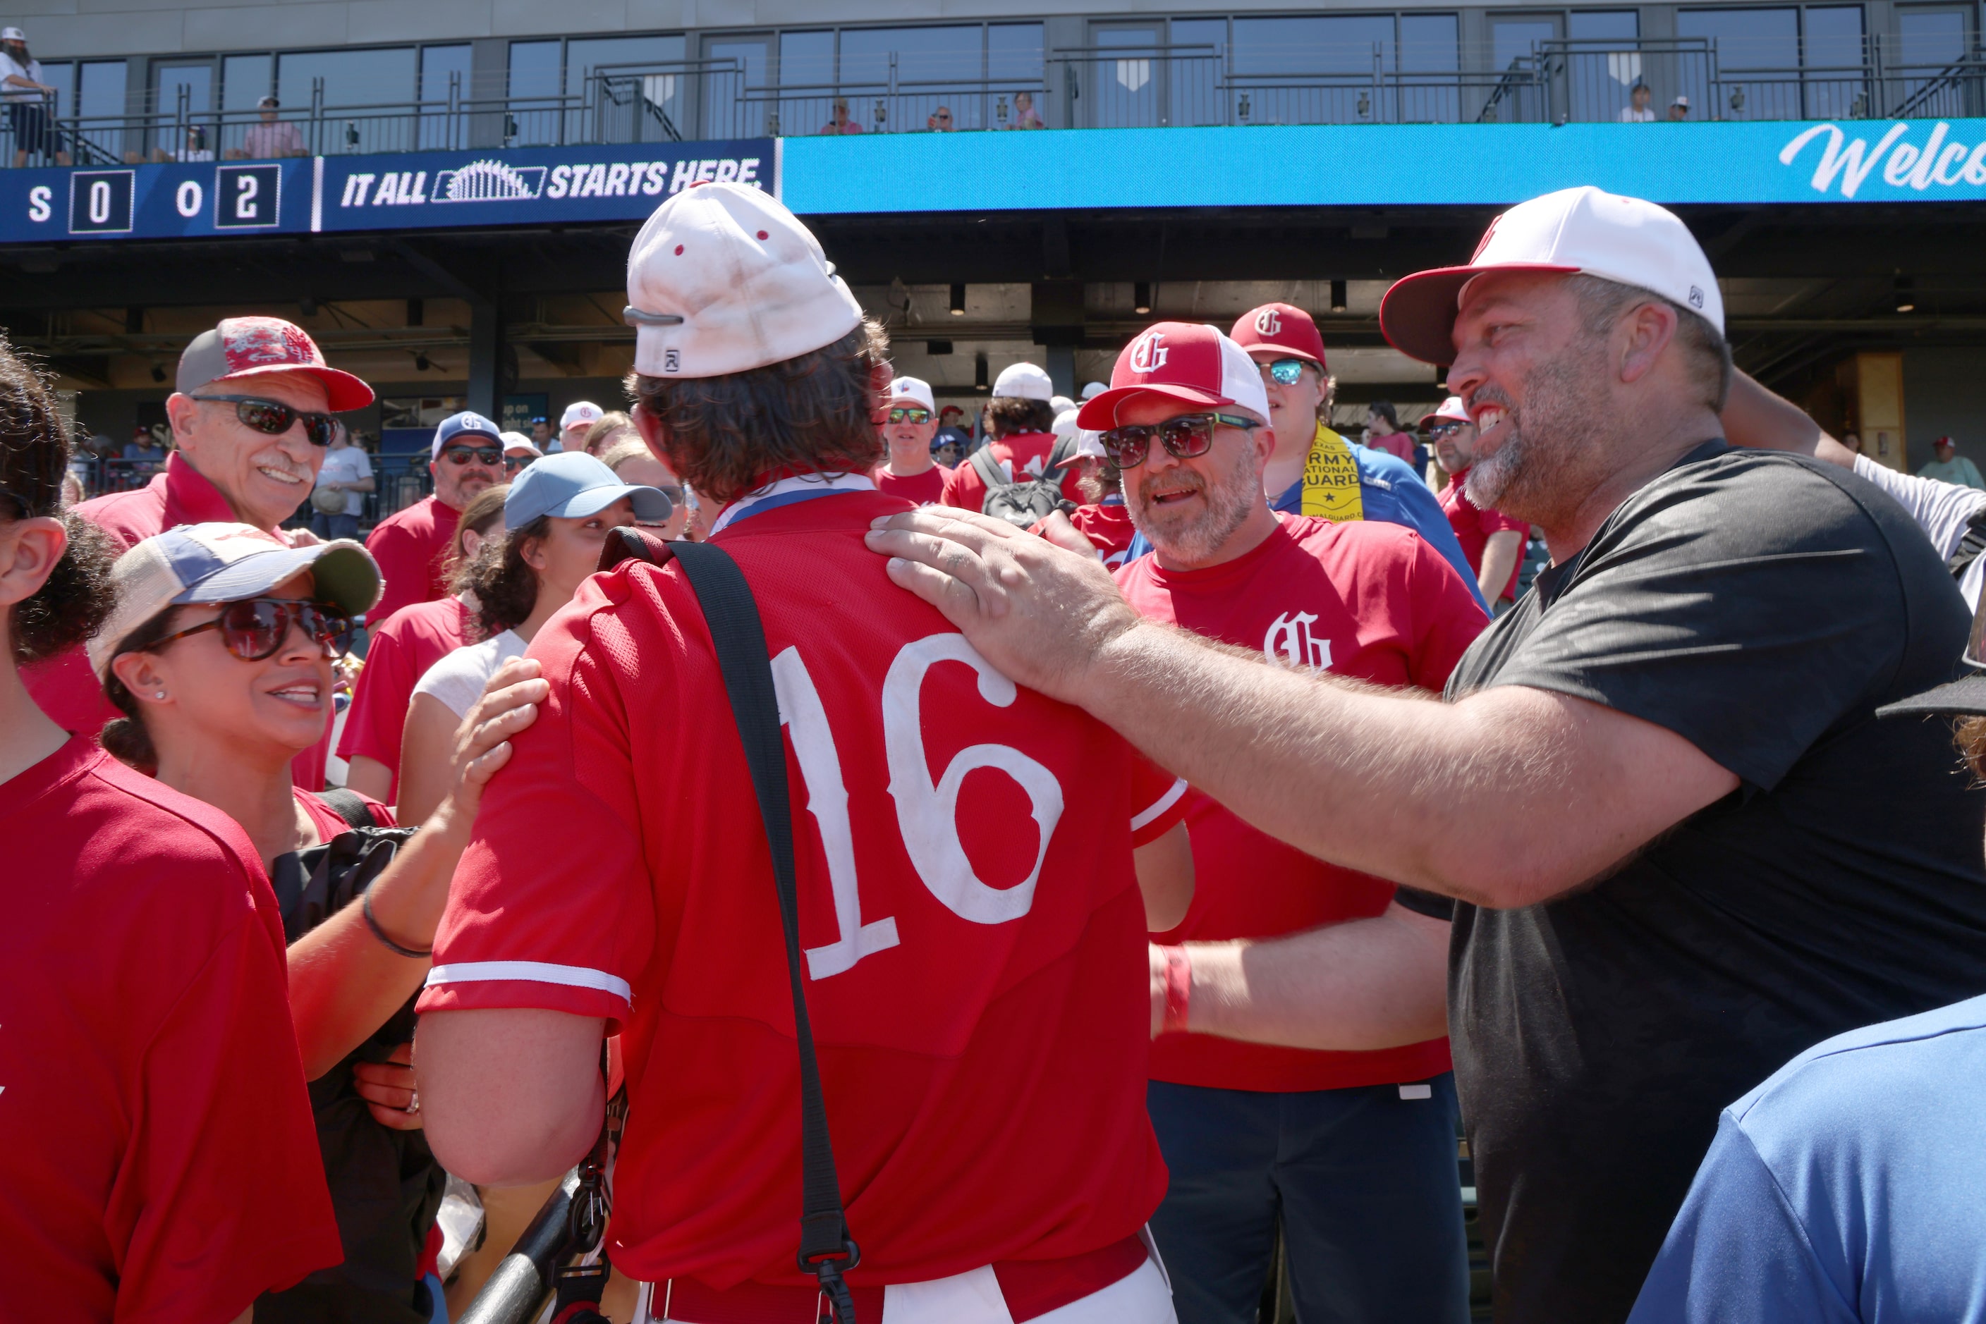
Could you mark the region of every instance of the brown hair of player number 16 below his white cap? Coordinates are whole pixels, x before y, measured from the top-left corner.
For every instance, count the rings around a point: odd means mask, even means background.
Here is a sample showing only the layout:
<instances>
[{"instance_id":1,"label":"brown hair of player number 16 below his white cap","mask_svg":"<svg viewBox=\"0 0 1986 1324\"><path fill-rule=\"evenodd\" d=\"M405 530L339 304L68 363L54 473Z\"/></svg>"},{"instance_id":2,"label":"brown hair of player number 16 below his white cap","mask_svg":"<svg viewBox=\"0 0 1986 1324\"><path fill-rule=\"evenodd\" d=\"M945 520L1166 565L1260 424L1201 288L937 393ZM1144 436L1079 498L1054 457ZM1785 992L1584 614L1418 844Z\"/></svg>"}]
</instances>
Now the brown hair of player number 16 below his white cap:
<instances>
[{"instance_id":1,"label":"brown hair of player number 16 below his white cap","mask_svg":"<svg viewBox=\"0 0 1986 1324\"><path fill-rule=\"evenodd\" d=\"M669 470L719 506L767 474L868 472L882 463L870 421L874 369L888 359L882 326L862 324L832 345L725 377L628 377L628 391L661 423Z\"/></svg>"}]
</instances>

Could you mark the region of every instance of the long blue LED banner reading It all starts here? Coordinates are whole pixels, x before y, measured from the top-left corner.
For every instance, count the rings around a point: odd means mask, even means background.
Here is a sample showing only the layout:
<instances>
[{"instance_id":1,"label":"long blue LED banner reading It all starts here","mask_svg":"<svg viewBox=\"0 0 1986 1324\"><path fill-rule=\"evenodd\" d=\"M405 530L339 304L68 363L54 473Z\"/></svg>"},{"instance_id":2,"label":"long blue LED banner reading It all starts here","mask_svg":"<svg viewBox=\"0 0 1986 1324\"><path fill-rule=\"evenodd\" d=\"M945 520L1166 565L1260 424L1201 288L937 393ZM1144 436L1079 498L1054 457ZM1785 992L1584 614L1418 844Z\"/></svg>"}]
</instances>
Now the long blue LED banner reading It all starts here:
<instances>
[{"instance_id":1,"label":"long blue LED banner reading It all starts here","mask_svg":"<svg viewBox=\"0 0 1986 1324\"><path fill-rule=\"evenodd\" d=\"M711 181L802 216L1501 206L1573 185L1668 204L1974 202L1986 119L888 133L24 169L0 171L0 244L624 222Z\"/></svg>"}]
</instances>

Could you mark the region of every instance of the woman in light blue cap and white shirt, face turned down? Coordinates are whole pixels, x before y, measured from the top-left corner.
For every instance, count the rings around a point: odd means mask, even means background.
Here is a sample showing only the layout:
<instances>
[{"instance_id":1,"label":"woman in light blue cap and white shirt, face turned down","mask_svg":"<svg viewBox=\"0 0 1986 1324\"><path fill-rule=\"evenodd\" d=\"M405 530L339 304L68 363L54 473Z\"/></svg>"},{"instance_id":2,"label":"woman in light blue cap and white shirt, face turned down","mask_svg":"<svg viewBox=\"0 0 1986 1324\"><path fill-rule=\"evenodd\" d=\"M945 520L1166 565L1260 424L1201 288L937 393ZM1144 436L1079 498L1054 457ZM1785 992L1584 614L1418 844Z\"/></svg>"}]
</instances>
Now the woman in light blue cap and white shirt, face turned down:
<instances>
[{"instance_id":1,"label":"woman in light blue cap and white shirt, face turned down","mask_svg":"<svg viewBox=\"0 0 1986 1324\"><path fill-rule=\"evenodd\" d=\"M667 496L622 482L584 451L548 455L518 474L504 496L504 536L455 578L457 592L475 594L483 643L455 649L413 687L399 748L401 822L425 822L443 804L463 715L491 675L572 601L600 566L608 534L669 516Z\"/></svg>"}]
</instances>

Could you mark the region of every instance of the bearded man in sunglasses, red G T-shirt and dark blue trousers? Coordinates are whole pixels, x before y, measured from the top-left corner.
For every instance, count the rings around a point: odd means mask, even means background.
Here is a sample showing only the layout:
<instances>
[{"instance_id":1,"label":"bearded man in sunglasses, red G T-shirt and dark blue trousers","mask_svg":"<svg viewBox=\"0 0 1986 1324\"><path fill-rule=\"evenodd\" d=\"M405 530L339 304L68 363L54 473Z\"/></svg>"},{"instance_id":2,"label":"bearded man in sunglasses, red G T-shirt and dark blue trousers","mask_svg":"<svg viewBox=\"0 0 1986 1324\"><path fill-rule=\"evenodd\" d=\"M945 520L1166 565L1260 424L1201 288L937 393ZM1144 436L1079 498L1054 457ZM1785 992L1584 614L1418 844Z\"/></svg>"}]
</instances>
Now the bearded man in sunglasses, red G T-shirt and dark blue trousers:
<instances>
[{"instance_id":1,"label":"bearded man in sunglasses, red G T-shirt and dark blue trousers","mask_svg":"<svg viewBox=\"0 0 1986 1324\"><path fill-rule=\"evenodd\" d=\"M1376 520L1275 514L1263 373L1209 326L1160 322L1118 355L1078 423L1102 431L1152 556L1116 572L1140 615L1259 649L1299 673L1440 691L1484 627L1468 584L1420 536ZM1146 1102L1172 1185L1152 1233L1180 1318L1255 1318L1281 1217L1301 1318L1468 1318L1448 923L1392 883L1283 846L1198 792L1196 893L1154 941L1176 996L1154 1022ZM1188 941L1364 927L1424 975L1390 1026L1345 1052L1198 1034Z\"/></svg>"}]
</instances>

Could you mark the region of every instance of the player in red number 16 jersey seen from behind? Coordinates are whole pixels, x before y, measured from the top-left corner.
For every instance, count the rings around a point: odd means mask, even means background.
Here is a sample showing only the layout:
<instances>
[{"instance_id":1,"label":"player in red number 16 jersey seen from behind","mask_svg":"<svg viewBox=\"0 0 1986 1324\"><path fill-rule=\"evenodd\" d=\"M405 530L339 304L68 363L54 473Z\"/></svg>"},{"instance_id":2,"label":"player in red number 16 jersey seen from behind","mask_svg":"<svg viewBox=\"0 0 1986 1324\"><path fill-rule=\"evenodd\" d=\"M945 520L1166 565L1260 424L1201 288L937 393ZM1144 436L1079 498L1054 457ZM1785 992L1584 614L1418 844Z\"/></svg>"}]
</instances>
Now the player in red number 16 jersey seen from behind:
<instances>
[{"instance_id":1,"label":"player in red number 16 jersey seen from behind","mask_svg":"<svg viewBox=\"0 0 1986 1324\"><path fill-rule=\"evenodd\" d=\"M1170 1322L1142 1241L1166 1185L1146 931L1190 895L1184 784L1017 691L864 548L910 508L866 476L882 331L790 212L737 185L669 199L628 300L636 421L721 506L711 542L765 619L858 1318ZM427 1135L471 1181L564 1171L620 1032L608 1251L638 1318L810 1322L780 917L703 613L677 564L634 562L530 655L550 697L419 1004Z\"/></svg>"}]
</instances>

